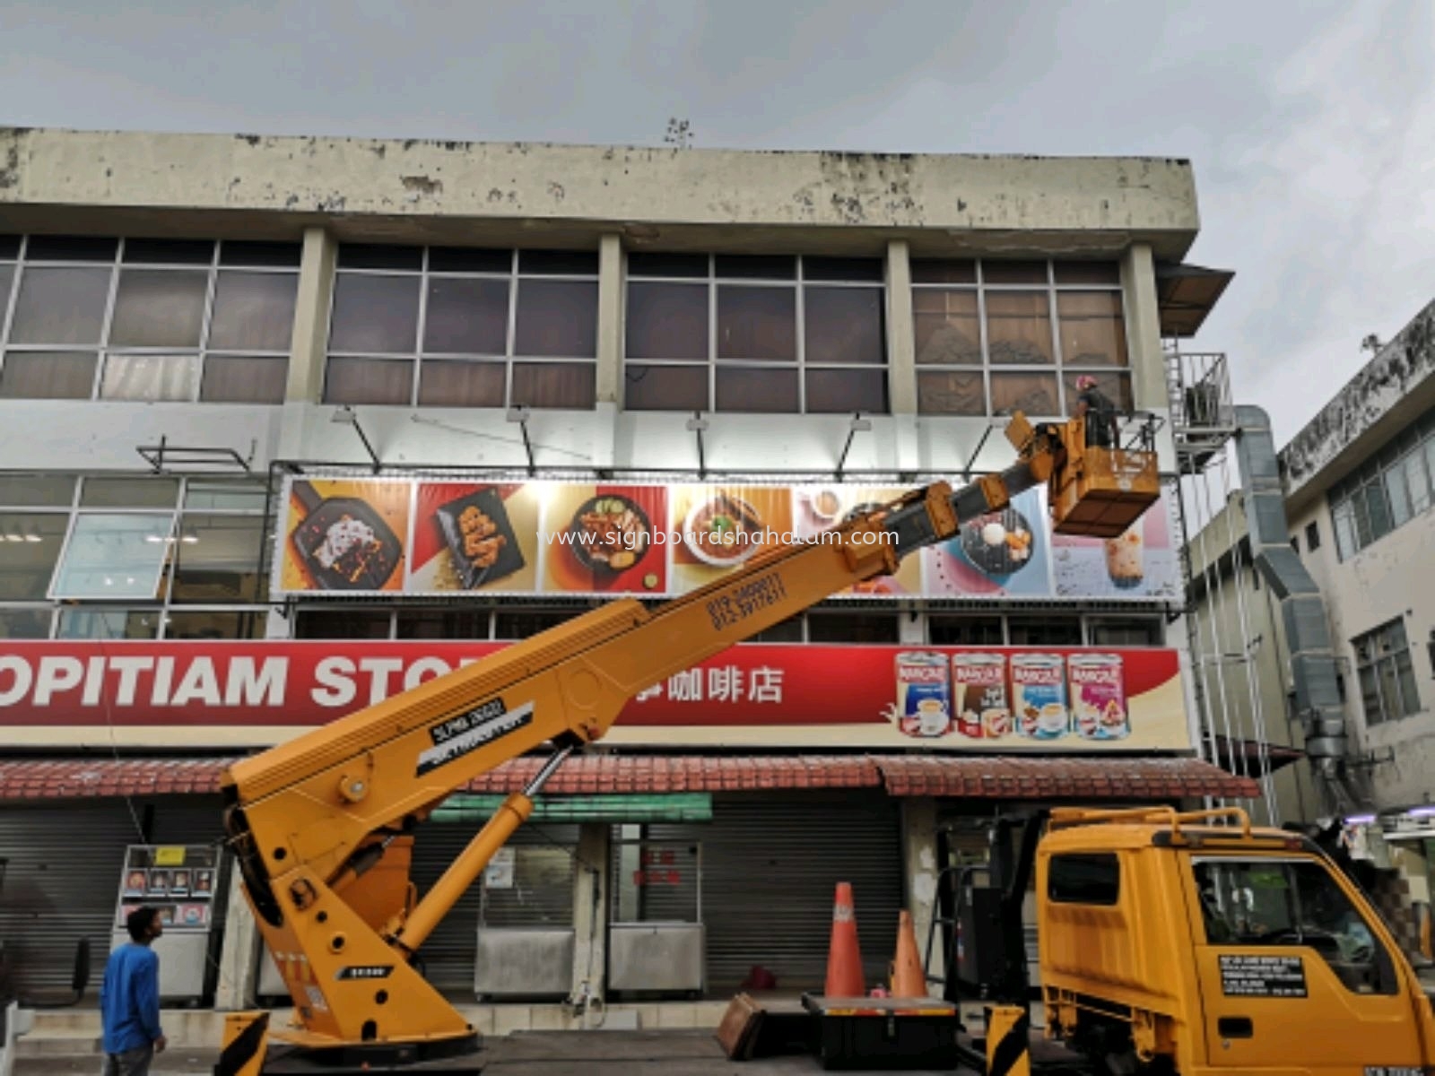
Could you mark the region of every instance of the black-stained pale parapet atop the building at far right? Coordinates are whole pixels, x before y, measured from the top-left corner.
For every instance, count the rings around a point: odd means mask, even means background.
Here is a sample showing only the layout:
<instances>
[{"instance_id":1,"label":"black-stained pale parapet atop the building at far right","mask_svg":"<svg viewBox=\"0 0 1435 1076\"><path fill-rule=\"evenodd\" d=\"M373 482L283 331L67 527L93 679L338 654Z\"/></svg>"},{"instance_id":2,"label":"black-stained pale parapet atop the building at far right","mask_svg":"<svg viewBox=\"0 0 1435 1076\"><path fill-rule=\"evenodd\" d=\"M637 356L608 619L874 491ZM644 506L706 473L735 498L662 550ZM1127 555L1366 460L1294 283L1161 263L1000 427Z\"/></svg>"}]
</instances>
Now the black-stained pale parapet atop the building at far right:
<instances>
[{"instance_id":1,"label":"black-stained pale parapet atop the building at far right","mask_svg":"<svg viewBox=\"0 0 1435 1076\"><path fill-rule=\"evenodd\" d=\"M1281 449L1287 498L1296 506L1304 506L1424 410L1429 396L1416 389L1432 373L1435 301L1382 347Z\"/></svg>"}]
</instances>

